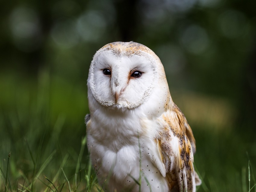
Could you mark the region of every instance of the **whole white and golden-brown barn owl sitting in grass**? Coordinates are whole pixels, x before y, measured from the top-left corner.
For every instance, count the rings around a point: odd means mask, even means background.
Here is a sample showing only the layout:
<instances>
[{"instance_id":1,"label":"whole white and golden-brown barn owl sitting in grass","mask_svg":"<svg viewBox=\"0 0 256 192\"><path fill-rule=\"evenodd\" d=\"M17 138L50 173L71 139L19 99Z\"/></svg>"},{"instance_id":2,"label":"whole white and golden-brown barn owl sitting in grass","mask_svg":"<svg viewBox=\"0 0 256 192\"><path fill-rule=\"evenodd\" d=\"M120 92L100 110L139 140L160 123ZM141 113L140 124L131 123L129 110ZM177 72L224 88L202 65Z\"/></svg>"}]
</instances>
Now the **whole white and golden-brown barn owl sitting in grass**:
<instances>
[{"instance_id":1,"label":"whole white and golden-brown barn owl sitting in grass","mask_svg":"<svg viewBox=\"0 0 256 192\"><path fill-rule=\"evenodd\" d=\"M195 191L195 138L157 55L113 42L91 62L87 147L104 191Z\"/></svg>"}]
</instances>

